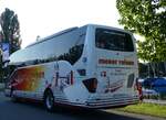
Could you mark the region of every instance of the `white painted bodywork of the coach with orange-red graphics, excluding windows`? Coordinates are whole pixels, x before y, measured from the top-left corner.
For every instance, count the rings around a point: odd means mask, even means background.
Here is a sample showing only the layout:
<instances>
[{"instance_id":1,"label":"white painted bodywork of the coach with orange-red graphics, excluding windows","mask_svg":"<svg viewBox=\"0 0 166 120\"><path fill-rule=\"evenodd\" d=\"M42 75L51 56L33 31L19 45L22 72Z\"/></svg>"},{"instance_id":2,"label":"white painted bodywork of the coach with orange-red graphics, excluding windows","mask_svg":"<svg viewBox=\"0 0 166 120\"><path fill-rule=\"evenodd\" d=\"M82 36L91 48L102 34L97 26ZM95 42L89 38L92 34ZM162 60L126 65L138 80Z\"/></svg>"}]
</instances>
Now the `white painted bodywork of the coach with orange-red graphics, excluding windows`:
<instances>
[{"instance_id":1,"label":"white painted bodywork of the coach with orange-red graphics, excluding windows","mask_svg":"<svg viewBox=\"0 0 166 120\"><path fill-rule=\"evenodd\" d=\"M85 108L108 108L137 102L138 96L134 89L135 80L138 77L136 52L110 52L96 48L96 28L124 32L114 28L87 25L83 53L74 65L66 61L56 61L18 68L15 76L13 75L11 78L11 80L18 80L13 96L42 100L44 90L50 88L55 102ZM72 32L72 34L74 33L79 34L76 30ZM74 37L77 39L76 35ZM49 41L48 43L45 41L45 44L50 44ZM37 47L39 46L37 45ZM51 46L53 47L53 45ZM44 48L44 46L42 47ZM33 50L35 51L35 48ZM30 54L31 48L28 51ZM42 55L42 53L40 54ZM13 63L17 63L15 56L12 56ZM33 57L37 56L33 55ZM45 53L44 57L46 57ZM77 69L85 69L85 75L81 76ZM106 76L102 76L102 73L106 73ZM96 92L90 92L83 84L83 80L91 78L97 79ZM128 81L131 79L132 84ZM8 89L7 91L10 92Z\"/></svg>"}]
</instances>

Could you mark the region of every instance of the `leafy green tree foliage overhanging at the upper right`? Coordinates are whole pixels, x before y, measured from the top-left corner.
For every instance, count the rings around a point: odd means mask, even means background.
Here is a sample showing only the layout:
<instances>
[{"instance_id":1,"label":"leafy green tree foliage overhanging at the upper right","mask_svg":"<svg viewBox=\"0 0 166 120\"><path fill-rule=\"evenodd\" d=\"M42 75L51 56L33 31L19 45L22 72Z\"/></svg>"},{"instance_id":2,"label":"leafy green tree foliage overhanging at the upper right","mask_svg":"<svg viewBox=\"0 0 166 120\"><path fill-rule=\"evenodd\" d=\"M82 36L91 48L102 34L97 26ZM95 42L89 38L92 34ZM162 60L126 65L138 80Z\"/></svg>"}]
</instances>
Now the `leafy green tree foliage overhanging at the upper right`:
<instances>
[{"instance_id":1,"label":"leafy green tree foliage overhanging at the upper right","mask_svg":"<svg viewBox=\"0 0 166 120\"><path fill-rule=\"evenodd\" d=\"M138 56L146 62L166 61L166 0L116 0L124 29L145 36Z\"/></svg>"}]
</instances>

